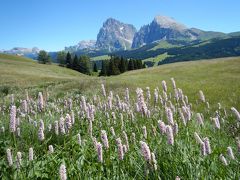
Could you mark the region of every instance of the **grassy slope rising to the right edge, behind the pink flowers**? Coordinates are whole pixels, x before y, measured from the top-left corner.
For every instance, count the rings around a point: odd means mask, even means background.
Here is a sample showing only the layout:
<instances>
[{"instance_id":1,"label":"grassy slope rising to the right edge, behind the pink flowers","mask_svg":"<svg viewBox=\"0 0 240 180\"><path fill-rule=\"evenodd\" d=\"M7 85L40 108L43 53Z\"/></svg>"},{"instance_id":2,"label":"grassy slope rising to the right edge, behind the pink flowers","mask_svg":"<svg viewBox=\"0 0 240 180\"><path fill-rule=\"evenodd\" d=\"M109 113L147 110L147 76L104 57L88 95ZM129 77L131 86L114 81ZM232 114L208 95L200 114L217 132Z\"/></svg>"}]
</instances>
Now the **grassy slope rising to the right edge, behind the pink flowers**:
<instances>
[{"instance_id":1,"label":"grassy slope rising to the right edge, behind the pink flowers","mask_svg":"<svg viewBox=\"0 0 240 180\"><path fill-rule=\"evenodd\" d=\"M161 86L161 81L170 83L174 77L191 100L196 99L201 89L206 98L216 104L235 105L240 108L240 58L220 58L161 65L151 69L131 71L108 78L112 86Z\"/></svg>"}]
</instances>

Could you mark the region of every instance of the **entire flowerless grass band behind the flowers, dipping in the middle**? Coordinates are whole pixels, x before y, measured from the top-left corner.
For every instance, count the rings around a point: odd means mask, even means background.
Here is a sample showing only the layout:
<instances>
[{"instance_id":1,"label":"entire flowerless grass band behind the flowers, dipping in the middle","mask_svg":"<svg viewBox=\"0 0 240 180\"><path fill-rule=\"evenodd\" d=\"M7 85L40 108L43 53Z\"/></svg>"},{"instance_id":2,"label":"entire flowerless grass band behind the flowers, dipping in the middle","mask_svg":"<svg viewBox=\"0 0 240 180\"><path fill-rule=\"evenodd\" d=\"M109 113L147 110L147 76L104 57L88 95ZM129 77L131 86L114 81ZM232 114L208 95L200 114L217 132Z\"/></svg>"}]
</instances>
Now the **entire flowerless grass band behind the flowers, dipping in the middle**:
<instances>
[{"instance_id":1,"label":"entire flowerless grass band behind the flowers, dipping in the middle","mask_svg":"<svg viewBox=\"0 0 240 180\"><path fill-rule=\"evenodd\" d=\"M91 77L57 65L38 64L30 59L0 55L1 89L23 91L24 88L50 88L53 93L62 90L80 90L94 93L102 82L108 88L123 90L126 87L161 86L163 79L170 82L174 77L190 98L195 98L202 89L211 102L224 102L226 105L240 102L240 58L220 58L208 61L173 63L154 68L136 70L112 77ZM92 88L92 89L91 89ZM1 92L0 92L1 93ZM238 104L237 104L238 102Z\"/></svg>"}]
</instances>

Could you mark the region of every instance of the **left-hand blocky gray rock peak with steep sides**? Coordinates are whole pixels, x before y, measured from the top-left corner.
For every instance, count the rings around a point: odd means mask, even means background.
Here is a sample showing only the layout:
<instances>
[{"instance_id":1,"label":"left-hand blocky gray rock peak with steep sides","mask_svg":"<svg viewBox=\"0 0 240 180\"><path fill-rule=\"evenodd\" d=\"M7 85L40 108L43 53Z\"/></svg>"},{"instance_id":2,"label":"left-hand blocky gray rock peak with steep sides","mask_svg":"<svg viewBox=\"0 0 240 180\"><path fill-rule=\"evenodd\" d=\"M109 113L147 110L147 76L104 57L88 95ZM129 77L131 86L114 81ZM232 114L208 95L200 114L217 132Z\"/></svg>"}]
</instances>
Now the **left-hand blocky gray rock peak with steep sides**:
<instances>
[{"instance_id":1,"label":"left-hand blocky gray rock peak with steep sides","mask_svg":"<svg viewBox=\"0 0 240 180\"><path fill-rule=\"evenodd\" d=\"M130 49L136 32L133 25L109 18L97 35L96 47L109 51Z\"/></svg>"}]
</instances>

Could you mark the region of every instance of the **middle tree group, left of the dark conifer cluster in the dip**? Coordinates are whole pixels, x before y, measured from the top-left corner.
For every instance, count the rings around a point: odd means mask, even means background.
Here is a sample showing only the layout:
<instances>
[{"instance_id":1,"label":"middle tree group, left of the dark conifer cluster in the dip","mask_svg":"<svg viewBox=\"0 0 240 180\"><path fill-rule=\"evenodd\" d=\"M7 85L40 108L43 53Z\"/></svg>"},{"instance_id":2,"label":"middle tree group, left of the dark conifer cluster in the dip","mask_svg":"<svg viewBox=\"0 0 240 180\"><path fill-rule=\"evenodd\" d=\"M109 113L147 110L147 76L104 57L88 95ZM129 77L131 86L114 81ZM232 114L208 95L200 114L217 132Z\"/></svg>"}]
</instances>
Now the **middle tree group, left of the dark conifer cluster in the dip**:
<instances>
[{"instance_id":1,"label":"middle tree group, left of the dark conifer cluster in the dip","mask_svg":"<svg viewBox=\"0 0 240 180\"><path fill-rule=\"evenodd\" d=\"M72 57L69 52L66 54L64 51L61 51L57 54L57 62L60 66L79 71L83 74L91 74L92 64L89 56L82 55L78 57L74 55Z\"/></svg>"}]
</instances>

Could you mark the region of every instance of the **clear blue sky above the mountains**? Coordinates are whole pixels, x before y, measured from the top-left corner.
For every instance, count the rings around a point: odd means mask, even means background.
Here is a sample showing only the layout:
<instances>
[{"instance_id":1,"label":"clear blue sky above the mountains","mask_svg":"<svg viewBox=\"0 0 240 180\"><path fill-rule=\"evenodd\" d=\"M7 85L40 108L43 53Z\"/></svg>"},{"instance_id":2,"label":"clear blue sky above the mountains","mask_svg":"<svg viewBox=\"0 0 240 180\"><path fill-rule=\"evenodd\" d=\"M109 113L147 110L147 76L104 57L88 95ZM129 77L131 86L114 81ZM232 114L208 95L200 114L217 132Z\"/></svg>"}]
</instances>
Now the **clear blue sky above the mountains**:
<instances>
[{"instance_id":1,"label":"clear blue sky above the mountains","mask_svg":"<svg viewBox=\"0 0 240 180\"><path fill-rule=\"evenodd\" d=\"M1 0L0 50L63 50L96 39L109 18L137 29L156 15L203 30L240 31L239 0Z\"/></svg>"}]
</instances>

